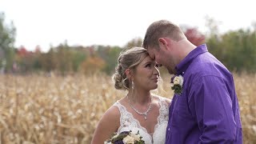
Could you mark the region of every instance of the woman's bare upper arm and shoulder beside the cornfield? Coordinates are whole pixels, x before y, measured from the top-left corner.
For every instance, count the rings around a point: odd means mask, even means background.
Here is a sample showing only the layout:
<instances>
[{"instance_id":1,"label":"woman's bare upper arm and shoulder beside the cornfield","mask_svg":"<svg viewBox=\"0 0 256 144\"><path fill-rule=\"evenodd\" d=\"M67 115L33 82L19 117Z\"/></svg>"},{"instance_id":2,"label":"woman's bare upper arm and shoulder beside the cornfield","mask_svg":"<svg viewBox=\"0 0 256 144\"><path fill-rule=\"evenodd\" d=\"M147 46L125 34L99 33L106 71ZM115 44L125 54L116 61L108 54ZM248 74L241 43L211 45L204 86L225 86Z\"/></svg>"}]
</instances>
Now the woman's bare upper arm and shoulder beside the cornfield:
<instances>
[{"instance_id":1,"label":"woman's bare upper arm and shoulder beside the cornfield","mask_svg":"<svg viewBox=\"0 0 256 144\"><path fill-rule=\"evenodd\" d=\"M103 144L106 139L110 138L111 134L118 130L119 126L120 112L118 107L111 106L98 122L91 144Z\"/></svg>"}]
</instances>

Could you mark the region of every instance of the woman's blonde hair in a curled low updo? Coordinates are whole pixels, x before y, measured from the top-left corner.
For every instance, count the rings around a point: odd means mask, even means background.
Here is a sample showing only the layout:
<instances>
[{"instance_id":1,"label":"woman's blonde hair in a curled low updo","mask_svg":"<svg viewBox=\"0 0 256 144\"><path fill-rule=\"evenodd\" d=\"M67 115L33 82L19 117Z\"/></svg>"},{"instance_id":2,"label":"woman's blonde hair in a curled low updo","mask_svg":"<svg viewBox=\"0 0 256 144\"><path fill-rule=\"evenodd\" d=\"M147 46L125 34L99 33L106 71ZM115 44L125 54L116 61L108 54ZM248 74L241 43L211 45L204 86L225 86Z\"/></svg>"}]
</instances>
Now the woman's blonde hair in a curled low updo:
<instances>
[{"instance_id":1,"label":"woman's blonde hair in a curled low updo","mask_svg":"<svg viewBox=\"0 0 256 144\"><path fill-rule=\"evenodd\" d=\"M129 50L122 51L118 58L118 66L116 66L112 77L114 87L118 90L128 90L130 81L126 77L126 69L134 70L148 55L147 50L143 47L132 47Z\"/></svg>"}]
</instances>

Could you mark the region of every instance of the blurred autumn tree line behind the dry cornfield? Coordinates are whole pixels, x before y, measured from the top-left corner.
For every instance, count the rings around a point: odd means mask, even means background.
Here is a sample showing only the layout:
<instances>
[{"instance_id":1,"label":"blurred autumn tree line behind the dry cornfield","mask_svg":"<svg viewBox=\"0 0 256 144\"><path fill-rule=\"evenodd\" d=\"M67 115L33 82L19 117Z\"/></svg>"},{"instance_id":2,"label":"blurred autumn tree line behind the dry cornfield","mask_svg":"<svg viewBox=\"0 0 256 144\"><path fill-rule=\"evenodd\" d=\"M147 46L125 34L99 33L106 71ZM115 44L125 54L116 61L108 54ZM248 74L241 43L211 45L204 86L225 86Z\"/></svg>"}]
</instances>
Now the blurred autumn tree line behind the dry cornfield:
<instances>
[{"instance_id":1,"label":"blurred autumn tree line behind the dry cornfield","mask_svg":"<svg viewBox=\"0 0 256 144\"><path fill-rule=\"evenodd\" d=\"M206 19L209 28L202 34L198 28L182 26L186 37L194 45L206 43L214 54L229 70L234 72L256 72L256 26L247 29L232 30L224 34L218 32L218 23ZM6 25L5 15L0 14L0 73L12 74L111 74L122 50L132 46L141 46L142 38L134 38L126 46L69 46L63 42L59 46L50 46L42 52L40 46L34 51L25 46L14 47L16 28L13 23Z\"/></svg>"}]
</instances>

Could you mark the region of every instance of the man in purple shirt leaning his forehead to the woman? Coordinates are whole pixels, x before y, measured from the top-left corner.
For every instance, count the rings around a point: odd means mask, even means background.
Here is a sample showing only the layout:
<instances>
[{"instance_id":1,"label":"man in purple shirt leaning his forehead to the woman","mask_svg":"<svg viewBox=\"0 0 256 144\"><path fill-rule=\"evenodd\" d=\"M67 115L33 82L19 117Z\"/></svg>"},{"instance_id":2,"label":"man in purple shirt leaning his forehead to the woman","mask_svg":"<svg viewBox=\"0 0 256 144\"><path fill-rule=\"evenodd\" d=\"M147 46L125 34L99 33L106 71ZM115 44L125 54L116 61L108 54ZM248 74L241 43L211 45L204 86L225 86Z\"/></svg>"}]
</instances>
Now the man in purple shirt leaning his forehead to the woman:
<instances>
[{"instance_id":1,"label":"man in purple shirt leaning his forehead to the woman","mask_svg":"<svg viewBox=\"0 0 256 144\"><path fill-rule=\"evenodd\" d=\"M206 44L194 46L177 25L161 20L148 27L143 47L184 80L170 105L166 143L242 143L232 74Z\"/></svg>"}]
</instances>

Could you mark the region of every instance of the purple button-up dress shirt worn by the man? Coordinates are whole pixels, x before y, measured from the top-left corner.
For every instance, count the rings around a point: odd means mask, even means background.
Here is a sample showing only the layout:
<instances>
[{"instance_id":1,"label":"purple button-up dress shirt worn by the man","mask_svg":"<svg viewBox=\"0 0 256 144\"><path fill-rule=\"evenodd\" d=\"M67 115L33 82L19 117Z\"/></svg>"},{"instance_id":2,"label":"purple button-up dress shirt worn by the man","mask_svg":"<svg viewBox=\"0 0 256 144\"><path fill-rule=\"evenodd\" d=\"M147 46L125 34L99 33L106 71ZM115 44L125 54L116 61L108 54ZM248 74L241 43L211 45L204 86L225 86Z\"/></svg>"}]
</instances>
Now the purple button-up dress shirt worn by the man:
<instances>
[{"instance_id":1,"label":"purple button-up dress shirt worn by the man","mask_svg":"<svg viewBox=\"0 0 256 144\"><path fill-rule=\"evenodd\" d=\"M242 125L234 80L229 70L198 46L176 66L184 78L174 94L166 144L242 143Z\"/></svg>"}]
</instances>

